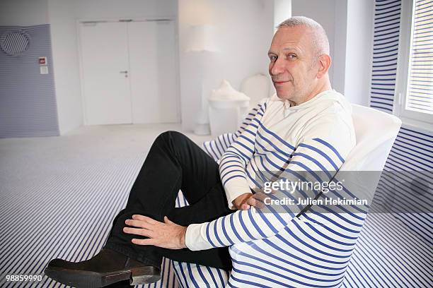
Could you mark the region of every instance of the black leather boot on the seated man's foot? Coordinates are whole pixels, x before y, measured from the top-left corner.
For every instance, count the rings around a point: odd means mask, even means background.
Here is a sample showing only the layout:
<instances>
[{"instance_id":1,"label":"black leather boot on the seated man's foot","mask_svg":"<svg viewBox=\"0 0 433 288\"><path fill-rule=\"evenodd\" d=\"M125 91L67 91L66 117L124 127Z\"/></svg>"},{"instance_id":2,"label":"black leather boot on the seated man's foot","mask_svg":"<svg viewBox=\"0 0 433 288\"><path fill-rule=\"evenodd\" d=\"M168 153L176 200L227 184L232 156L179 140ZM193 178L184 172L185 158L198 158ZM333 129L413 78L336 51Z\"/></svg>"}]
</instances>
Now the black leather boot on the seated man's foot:
<instances>
[{"instance_id":1,"label":"black leather boot on the seated man's foot","mask_svg":"<svg viewBox=\"0 0 433 288\"><path fill-rule=\"evenodd\" d=\"M53 259L44 272L62 284L85 288L105 287L125 280L133 285L147 284L161 279L159 268L108 248L88 260L76 263Z\"/></svg>"}]
</instances>

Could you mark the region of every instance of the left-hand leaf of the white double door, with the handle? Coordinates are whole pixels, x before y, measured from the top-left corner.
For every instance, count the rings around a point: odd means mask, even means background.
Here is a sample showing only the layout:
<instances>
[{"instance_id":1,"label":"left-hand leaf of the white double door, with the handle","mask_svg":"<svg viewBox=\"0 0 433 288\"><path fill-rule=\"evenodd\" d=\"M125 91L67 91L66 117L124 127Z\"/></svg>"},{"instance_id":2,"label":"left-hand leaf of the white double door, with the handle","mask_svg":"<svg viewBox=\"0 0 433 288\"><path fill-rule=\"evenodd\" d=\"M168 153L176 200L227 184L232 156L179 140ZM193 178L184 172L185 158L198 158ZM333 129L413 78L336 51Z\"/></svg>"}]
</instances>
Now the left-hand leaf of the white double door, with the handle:
<instances>
[{"instance_id":1,"label":"left-hand leaf of the white double door, with the handle","mask_svg":"<svg viewBox=\"0 0 433 288\"><path fill-rule=\"evenodd\" d=\"M132 123L127 23L81 23L86 124Z\"/></svg>"}]
</instances>

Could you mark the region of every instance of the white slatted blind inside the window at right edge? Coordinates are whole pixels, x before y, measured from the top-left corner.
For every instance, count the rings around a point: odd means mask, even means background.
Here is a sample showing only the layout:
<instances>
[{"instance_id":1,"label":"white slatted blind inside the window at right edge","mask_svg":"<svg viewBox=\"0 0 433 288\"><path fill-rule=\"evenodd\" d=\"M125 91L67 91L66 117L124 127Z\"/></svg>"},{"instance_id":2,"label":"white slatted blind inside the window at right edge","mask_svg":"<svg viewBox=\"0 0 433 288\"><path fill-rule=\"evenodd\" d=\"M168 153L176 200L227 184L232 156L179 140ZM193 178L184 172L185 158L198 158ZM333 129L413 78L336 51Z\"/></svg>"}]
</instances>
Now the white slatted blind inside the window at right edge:
<instances>
[{"instance_id":1,"label":"white slatted blind inside the window at right edge","mask_svg":"<svg viewBox=\"0 0 433 288\"><path fill-rule=\"evenodd\" d=\"M405 109L433 114L433 1L415 1Z\"/></svg>"}]
</instances>

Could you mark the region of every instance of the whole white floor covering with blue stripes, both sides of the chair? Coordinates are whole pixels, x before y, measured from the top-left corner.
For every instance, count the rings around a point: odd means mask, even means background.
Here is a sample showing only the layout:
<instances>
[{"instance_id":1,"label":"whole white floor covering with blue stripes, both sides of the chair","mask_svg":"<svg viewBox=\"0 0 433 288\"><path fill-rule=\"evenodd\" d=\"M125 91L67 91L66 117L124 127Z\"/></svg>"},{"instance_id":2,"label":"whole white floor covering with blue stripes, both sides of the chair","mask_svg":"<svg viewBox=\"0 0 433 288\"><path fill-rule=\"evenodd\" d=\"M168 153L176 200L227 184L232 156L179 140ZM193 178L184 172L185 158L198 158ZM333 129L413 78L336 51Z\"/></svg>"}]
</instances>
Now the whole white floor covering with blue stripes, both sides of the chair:
<instances>
[{"instance_id":1,"label":"whole white floor covering with blue stripes, both sides of the chair","mask_svg":"<svg viewBox=\"0 0 433 288\"><path fill-rule=\"evenodd\" d=\"M42 275L52 258L79 261L96 254L151 141L169 128L106 126L56 138L0 140L0 287L65 287L47 277L5 277ZM417 215L369 214L343 286L431 287L432 215L422 219L429 220L427 228L417 236L404 222ZM195 287L189 275L199 275L197 269L209 275L196 265L166 264L164 282L149 287ZM212 274L209 282L223 287L227 275Z\"/></svg>"}]
</instances>

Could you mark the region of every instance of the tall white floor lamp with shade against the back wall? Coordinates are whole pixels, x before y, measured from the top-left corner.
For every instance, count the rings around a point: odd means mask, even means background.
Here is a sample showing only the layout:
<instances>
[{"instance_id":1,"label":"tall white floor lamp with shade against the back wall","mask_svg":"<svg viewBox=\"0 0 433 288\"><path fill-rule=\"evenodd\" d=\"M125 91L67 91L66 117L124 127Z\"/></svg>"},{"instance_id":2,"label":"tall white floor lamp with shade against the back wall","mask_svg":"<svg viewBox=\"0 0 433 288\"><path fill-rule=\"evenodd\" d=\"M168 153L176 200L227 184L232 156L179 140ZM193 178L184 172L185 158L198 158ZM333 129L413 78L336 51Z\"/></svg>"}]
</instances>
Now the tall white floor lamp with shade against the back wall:
<instances>
[{"instance_id":1,"label":"tall white floor lamp with shade against the back wall","mask_svg":"<svg viewBox=\"0 0 433 288\"><path fill-rule=\"evenodd\" d=\"M212 34L213 27L211 25L195 25L190 28L190 39L187 45L187 52L200 54L198 61L201 67L200 76L200 112L197 115L194 133L196 135L209 135L209 114L207 111L207 97L204 92L204 80L207 76L207 59L213 52L217 52L217 47L214 44Z\"/></svg>"}]
</instances>

